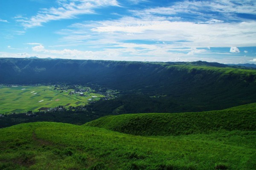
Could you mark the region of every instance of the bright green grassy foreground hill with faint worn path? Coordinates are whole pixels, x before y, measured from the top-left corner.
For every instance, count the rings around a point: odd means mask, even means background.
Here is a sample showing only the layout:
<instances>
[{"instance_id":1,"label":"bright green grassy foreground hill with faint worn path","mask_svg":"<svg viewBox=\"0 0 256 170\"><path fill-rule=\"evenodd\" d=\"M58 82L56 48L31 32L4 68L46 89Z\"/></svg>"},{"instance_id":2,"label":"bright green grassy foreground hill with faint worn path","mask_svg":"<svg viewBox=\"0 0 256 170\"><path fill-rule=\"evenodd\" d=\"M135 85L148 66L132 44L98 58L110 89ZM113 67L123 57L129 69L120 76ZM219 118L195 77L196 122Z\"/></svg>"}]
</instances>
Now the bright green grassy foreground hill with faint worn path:
<instances>
[{"instance_id":1,"label":"bright green grassy foreground hill with faint worn path","mask_svg":"<svg viewBox=\"0 0 256 170\"><path fill-rule=\"evenodd\" d=\"M1 170L253 170L255 132L133 136L37 122L0 129Z\"/></svg>"}]
</instances>

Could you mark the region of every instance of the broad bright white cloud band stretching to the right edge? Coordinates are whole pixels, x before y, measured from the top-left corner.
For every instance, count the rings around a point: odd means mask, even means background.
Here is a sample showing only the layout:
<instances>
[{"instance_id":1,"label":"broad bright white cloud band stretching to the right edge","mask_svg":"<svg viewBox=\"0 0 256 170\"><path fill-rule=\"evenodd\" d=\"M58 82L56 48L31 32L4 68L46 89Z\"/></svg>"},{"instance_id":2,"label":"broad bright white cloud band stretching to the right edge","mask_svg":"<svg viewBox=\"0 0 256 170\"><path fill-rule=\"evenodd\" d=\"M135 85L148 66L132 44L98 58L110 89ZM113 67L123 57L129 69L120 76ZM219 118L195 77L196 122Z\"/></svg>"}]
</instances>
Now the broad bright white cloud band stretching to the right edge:
<instances>
[{"instance_id":1,"label":"broad bright white cloud band stretching to the right edge","mask_svg":"<svg viewBox=\"0 0 256 170\"><path fill-rule=\"evenodd\" d=\"M256 22L242 23L191 23L171 22L162 18L122 17L119 20L84 24L79 29L91 29L92 35L102 39L149 40L174 42L182 47L254 46ZM76 30L77 31L77 30Z\"/></svg>"}]
</instances>

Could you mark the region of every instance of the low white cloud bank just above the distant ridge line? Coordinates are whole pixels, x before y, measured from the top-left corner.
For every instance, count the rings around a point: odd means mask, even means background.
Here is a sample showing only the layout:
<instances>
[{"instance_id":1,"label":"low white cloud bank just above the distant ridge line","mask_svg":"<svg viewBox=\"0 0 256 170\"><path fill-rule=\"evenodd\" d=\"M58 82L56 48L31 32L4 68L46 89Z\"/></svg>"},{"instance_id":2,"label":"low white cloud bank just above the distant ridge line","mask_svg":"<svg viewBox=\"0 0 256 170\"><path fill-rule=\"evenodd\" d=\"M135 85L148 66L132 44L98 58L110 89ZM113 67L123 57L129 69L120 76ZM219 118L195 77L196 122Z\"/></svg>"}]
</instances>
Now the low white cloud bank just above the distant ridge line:
<instances>
[{"instance_id":1,"label":"low white cloud bank just above the distant ridge line","mask_svg":"<svg viewBox=\"0 0 256 170\"><path fill-rule=\"evenodd\" d=\"M164 45L164 44L163 44ZM115 48L113 48L115 47ZM81 51L76 49L51 50L38 45L32 48L33 51L54 55L58 58L73 59L107 59L107 60L129 60L142 61L147 56L148 61L169 61L173 57L184 57L185 54L169 52L168 47L160 47L157 45L145 45L134 43L120 43L112 48L105 48L99 51ZM172 56L170 56L172 54Z\"/></svg>"}]
</instances>

